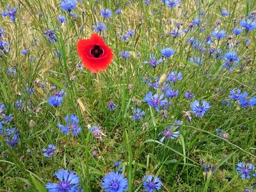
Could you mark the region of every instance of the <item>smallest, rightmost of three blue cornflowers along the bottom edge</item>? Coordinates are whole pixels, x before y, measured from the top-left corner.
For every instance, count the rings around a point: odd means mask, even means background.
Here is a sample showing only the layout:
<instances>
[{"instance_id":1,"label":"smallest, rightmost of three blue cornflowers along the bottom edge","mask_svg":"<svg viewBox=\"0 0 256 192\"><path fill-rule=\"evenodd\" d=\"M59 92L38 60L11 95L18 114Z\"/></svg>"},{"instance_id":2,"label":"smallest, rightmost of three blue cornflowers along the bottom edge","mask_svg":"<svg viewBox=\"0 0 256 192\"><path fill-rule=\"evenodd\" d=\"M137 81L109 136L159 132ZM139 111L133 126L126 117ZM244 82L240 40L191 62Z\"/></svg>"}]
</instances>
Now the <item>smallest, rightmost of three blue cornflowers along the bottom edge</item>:
<instances>
[{"instance_id":1,"label":"smallest, rightmost of three blue cornflowers along the bottom edge","mask_svg":"<svg viewBox=\"0 0 256 192\"><path fill-rule=\"evenodd\" d=\"M147 192L159 191L162 188L162 182L159 177L153 175L145 175L143 177L143 187Z\"/></svg>"}]
</instances>

